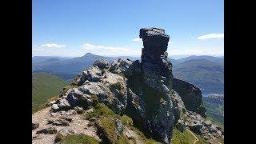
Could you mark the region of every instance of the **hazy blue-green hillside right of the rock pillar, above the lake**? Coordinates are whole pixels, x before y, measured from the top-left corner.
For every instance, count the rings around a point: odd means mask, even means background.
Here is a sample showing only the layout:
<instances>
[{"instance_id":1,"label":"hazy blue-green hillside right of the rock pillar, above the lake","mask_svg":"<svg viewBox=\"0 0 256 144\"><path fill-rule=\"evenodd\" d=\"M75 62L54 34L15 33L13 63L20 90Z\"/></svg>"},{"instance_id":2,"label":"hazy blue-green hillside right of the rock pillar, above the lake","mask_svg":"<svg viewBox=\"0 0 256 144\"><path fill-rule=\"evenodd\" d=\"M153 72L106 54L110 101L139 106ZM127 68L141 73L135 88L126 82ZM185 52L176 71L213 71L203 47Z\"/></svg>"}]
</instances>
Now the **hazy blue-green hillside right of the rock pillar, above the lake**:
<instances>
[{"instance_id":1,"label":"hazy blue-green hillside right of the rock pillar, above the lake","mask_svg":"<svg viewBox=\"0 0 256 144\"><path fill-rule=\"evenodd\" d=\"M203 94L224 92L224 66L205 59L193 59L174 66L174 77L198 86Z\"/></svg>"}]
</instances>

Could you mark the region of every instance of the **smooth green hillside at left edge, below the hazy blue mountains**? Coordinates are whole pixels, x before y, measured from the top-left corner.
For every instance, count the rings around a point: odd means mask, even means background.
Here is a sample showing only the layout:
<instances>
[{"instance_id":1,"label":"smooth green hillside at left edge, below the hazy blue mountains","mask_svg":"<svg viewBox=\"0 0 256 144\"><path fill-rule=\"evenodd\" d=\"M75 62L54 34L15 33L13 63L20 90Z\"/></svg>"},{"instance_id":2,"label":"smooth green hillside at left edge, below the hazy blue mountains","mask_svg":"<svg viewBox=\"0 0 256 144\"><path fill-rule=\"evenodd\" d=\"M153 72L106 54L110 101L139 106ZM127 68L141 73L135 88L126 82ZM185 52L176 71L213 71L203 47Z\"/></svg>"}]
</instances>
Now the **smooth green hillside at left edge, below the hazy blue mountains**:
<instances>
[{"instance_id":1,"label":"smooth green hillside at left edge, below the hazy blue mountains","mask_svg":"<svg viewBox=\"0 0 256 144\"><path fill-rule=\"evenodd\" d=\"M47 99L58 95L68 82L53 74L40 72L32 74L32 84L32 110L36 111Z\"/></svg>"}]
</instances>

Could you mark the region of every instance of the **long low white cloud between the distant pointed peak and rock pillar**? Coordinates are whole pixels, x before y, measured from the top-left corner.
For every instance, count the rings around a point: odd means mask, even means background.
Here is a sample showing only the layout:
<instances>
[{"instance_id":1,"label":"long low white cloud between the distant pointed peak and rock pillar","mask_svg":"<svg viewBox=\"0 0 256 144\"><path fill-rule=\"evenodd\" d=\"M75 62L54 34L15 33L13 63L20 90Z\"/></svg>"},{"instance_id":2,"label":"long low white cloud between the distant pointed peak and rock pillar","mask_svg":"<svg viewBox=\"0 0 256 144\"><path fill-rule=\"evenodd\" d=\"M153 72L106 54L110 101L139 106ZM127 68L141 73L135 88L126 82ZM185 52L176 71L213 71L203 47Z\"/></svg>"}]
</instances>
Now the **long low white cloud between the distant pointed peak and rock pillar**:
<instances>
[{"instance_id":1,"label":"long low white cloud between the distant pointed peak and rock pillar","mask_svg":"<svg viewBox=\"0 0 256 144\"><path fill-rule=\"evenodd\" d=\"M141 53L141 50L131 50L129 48L117 47L117 46L102 46L92 45L85 43L82 48L87 52L99 55L137 55Z\"/></svg>"}]
</instances>

